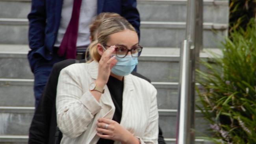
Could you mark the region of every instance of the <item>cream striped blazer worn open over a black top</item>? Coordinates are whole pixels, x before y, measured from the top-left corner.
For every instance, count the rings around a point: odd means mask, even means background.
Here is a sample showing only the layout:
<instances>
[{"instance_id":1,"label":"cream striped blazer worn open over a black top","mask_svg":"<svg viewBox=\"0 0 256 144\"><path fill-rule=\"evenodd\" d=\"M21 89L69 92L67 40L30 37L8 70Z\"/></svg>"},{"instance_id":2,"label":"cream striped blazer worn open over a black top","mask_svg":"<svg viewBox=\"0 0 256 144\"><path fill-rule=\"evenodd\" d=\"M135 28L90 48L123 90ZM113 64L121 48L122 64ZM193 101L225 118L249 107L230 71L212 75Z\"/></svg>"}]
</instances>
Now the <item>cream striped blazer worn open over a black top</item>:
<instances>
[{"instance_id":1,"label":"cream striped blazer worn open over a black top","mask_svg":"<svg viewBox=\"0 0 256 144\"><path fill-rule=\"evenodd\" d=\"M89 85L97 74L96 61L73 64L61 70L56 97L57 124L63 133L61 144L96 144L98 118L113 118L115 106L107 85L99 102L89 92ZM158 144L156 93L148 81L132 74L124 76L120 124L139 138L141 144Z\"/></svg>"}]
</instances>

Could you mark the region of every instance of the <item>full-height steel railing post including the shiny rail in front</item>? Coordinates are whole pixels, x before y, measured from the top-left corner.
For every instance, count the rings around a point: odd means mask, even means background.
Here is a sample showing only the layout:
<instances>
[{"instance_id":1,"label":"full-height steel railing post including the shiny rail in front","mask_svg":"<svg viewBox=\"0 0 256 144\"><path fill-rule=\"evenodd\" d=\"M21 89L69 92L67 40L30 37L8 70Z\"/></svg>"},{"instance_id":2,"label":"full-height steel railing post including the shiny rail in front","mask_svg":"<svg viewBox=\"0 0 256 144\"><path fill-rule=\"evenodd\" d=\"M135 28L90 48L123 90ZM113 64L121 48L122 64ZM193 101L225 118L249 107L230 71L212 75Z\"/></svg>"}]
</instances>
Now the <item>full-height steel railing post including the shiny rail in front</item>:
<instances>
[{"instance_id":1,"label":"full-height steel railing post including the shiny rail in front","mask_svg":"<svg viewBox=\"0 0 256 144\"><path fill-rule=\"evenodd\" d=\"M202 0L187 1L186 40L180 50L176 144L195 143L195 68L202 49Z\"/></svg>"}]
</instances>

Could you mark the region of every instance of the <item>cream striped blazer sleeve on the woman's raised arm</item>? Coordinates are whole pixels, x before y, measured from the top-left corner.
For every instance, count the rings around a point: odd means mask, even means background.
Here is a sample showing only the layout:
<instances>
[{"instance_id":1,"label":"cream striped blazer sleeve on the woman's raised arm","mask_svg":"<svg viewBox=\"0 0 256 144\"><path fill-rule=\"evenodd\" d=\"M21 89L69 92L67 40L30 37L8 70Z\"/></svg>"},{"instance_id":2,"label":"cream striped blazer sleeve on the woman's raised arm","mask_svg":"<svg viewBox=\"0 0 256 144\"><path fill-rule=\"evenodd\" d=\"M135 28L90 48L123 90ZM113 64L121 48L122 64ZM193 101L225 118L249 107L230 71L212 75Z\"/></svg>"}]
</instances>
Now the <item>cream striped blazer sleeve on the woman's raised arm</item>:
<instances>
[{"instance_id":1,"label":"cream striped blazer sleeve on the woman's raised arm","mask_svg":"<svg viewBox=\"0 0 256 144\"><path fill-rule=\"evenodd\" d=\"M61 70L57 86L57 124L64 135L76 138L87 130L102 107L89 92L89 85L83 93L81 79L74 75L74 70L70 72L67 68Z\"/></svg>"}]
</instances>

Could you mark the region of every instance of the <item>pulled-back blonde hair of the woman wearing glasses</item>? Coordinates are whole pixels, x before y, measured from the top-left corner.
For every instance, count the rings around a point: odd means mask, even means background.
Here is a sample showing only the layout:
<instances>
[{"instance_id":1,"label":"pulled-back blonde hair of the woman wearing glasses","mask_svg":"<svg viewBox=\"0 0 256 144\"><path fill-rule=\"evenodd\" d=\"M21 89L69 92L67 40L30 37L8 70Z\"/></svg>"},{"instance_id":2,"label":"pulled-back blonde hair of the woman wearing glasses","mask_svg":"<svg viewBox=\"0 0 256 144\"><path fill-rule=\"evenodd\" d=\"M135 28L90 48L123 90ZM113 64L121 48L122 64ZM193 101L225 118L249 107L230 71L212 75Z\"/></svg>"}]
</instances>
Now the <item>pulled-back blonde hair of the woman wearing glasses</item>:
<instances>
[{"instance_id":1,"label":"pulled-back blonde hair of the woman wearing glasses","mask_svg":"<svg viewBox=\"0 0 256 144\"><path fill-rule=\"evenodd\" d=\"M132 30L135 31L134 27L123 17L111 17L104 19L98 30L95 34L96 38L91 44L88 46L90 54L90 61L100 61L101 55L98 54L97 44L102 44L105 46L108 42L109 35L113 33L117 33L124 30ZM136 31L135 31L136 32Z\"/></svg>"}]
</instances>

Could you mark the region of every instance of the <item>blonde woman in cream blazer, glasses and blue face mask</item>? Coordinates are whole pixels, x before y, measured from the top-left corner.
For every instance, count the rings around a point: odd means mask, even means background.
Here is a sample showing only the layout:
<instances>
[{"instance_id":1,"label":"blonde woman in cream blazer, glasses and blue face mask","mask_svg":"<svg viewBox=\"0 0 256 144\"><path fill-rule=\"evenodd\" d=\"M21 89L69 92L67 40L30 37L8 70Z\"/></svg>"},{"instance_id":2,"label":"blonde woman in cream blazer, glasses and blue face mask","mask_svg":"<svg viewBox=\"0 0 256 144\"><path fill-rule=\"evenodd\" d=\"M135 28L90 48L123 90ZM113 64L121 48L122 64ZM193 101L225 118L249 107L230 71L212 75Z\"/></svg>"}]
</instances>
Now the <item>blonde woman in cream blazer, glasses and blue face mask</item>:
<instances>
[{"instance_id":1,"label":"blonde woman in cream blazer, glasses and blue face mask","mask_svg":"<svg viewBox=\"0 0 256 144\"><path fill-rule=\"evenodd\" d=\"M56 98L61 144L157 144L156 89L131 75L142 47L124 18L100 24L90 63L61 70Z\"/></svg>"}]
</instances>

